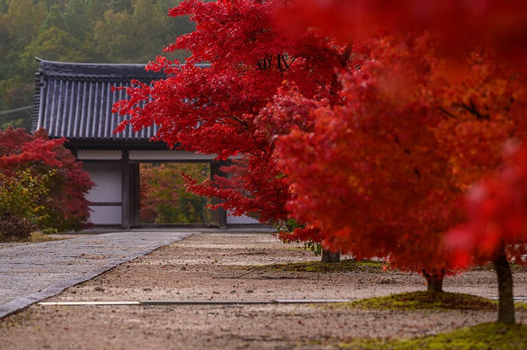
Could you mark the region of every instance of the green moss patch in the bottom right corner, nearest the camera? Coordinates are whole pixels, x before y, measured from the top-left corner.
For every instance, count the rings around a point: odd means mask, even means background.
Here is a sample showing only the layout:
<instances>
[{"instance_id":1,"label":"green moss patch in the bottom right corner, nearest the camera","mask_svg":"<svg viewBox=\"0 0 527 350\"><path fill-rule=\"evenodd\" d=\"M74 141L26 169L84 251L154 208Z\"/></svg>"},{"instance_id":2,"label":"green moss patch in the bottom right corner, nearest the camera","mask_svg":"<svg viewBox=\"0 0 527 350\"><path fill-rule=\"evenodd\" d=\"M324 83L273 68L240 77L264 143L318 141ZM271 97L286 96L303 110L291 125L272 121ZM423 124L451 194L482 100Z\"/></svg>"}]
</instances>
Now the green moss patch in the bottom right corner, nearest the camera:
<instances>
[{"instance_id":1,"label":"green moss patch in the bottom right corner, nearest the camera","mask_svg":"<svg viewBox=\"0 0 527 350\"><path fill-rule=\"evenodd\" d=\"M339 349L527 349L527 326L482 323L473 327L463 327L448 333L425 338L408 340L356 339L341 342Z\"/></svg>"}]
</instances>

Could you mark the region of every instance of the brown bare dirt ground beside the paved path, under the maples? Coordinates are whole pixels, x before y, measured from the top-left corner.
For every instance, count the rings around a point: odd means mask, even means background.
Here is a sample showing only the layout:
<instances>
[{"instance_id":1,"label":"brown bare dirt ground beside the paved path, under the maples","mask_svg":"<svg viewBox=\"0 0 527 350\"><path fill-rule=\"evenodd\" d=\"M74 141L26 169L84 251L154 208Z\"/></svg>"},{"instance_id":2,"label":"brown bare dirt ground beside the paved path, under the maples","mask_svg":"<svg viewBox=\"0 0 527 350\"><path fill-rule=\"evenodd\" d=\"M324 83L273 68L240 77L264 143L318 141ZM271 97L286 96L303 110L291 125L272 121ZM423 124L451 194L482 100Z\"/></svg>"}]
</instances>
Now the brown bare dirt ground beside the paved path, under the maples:
<instances>
[{"instance_id":1,"label":"brown bare dirt ground beside the paved path, under the maples","mask_svg":"<svg viewBox=\"0 0 527 350\"><path fill-rule=\"evenodd\" d=\"M0 320L1 349L335 349L352 338L412 338L495 320L495 312L358 310L278 299L361 299L424 290L396 271L295 272L310 261L269 233L201 233L122 264L47 301L215 301L216 304L34 304ZM343 257L346 259L346 257ZM249 266L249 267L248 267ZM527 296L527 273L515 273ZM448 278L445 291L497 296L492 271ZM227 302L243 303L227 303ZM221 303L225 302L225 303ZM261 303L249 303L261 302ZM517 314L526 323L527 314Z\"/></svg>"}]
</instances>

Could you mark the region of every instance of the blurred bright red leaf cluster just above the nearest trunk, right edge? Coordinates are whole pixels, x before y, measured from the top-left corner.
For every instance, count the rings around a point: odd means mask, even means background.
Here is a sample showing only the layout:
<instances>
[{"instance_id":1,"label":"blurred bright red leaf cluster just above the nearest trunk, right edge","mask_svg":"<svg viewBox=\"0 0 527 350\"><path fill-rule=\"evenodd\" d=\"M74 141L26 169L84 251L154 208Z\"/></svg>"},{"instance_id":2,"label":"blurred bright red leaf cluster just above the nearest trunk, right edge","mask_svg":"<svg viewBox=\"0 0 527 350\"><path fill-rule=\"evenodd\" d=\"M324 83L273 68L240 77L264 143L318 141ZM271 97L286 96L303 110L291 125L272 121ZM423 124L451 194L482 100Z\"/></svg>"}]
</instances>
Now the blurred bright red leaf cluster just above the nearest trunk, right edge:
<instances>
[{"instance_id":1,"label":"blurred bright red leaf cluster just above the nearest trunk, right edge","mask_svg":"<svg viewBox=\"0 0 527 350\"><path fill-rule=\"evenodd\" d=\"M516 263L526 262L526 145L510 143L505 148L504 165L467 191L466 207L467 222L445 239L460 266L492 261L505 247Z\"/></svg>"}]
</instances>

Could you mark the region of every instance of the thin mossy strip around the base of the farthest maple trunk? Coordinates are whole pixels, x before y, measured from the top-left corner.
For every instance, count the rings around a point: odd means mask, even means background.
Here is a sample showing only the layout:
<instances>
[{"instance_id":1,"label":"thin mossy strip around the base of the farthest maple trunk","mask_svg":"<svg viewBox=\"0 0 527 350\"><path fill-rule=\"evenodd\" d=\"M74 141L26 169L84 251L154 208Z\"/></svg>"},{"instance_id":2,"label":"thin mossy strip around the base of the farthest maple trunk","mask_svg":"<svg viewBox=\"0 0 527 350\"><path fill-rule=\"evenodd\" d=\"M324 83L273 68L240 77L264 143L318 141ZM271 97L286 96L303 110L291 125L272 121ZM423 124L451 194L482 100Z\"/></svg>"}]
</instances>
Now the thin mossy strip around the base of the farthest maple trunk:
<instances>
[{"instance_id":1,"label":"thin mossy strip around the base of the farthest maple trunk","mask_svg":"<svg viewBox=\"0 0 527 350\"><path fill-rule=\"evenodd\" d=\"M383 261L363 259L360 261L344 259L337 264L321 261L305 261L291 264L271 264L264 266L245 266L245 269L258 268L262 271L290 272L383 272Z\"/></svg>"}]
</instances>

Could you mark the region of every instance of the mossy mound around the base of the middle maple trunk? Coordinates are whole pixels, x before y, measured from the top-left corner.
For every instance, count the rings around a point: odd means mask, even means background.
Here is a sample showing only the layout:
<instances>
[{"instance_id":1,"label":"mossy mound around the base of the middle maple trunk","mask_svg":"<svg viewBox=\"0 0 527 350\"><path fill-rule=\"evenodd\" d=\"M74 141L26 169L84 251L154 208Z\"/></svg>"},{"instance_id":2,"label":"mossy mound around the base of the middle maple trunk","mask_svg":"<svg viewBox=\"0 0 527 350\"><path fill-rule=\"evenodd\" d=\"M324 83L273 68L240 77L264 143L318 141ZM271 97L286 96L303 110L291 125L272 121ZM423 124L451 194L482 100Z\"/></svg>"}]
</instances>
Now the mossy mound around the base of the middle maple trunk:
<instances>
[{"instance_id":1,"label":"mossy mound around the base of the middle maple trunk","mask_svg":"<svg viewBox=\"0 0 527 350\"><path fill-rule=\"evenodd\" d=\"M497 301L480 296L426 291L361 299L346 305L380 310L497 310Z\"/></svg>"}]
</instances>

